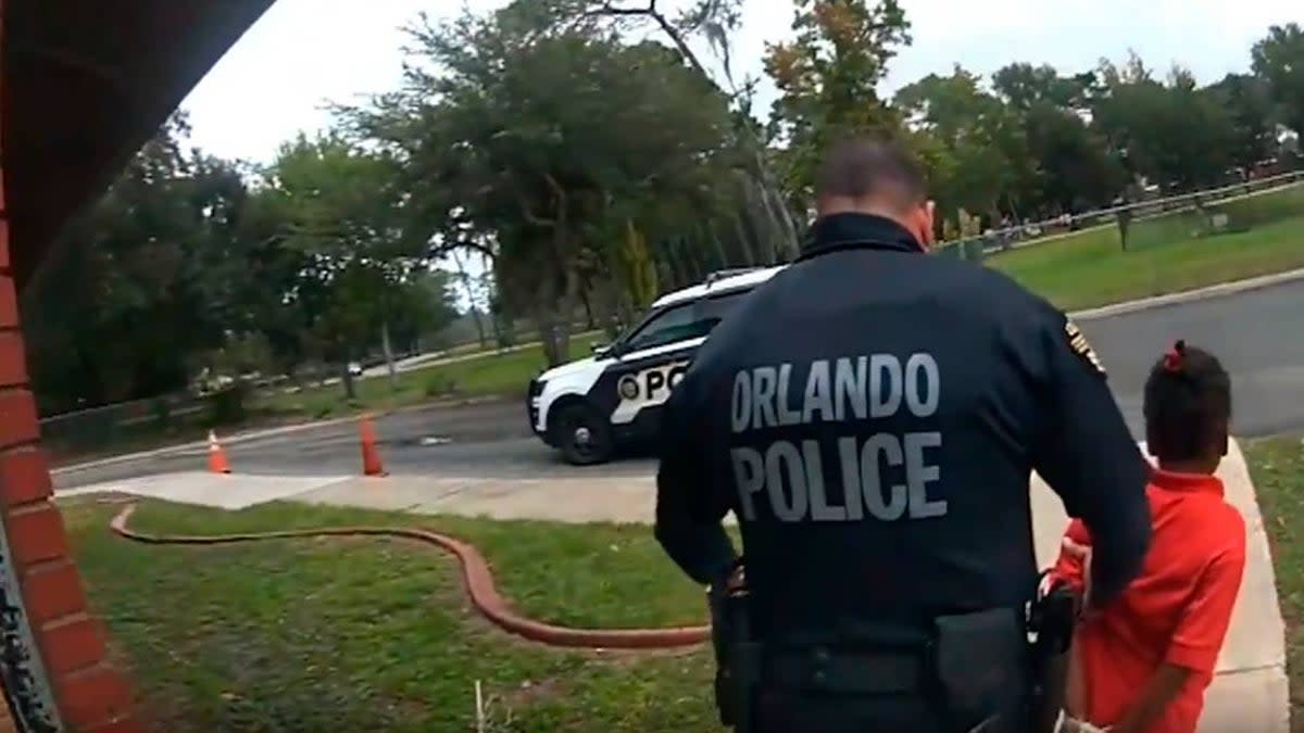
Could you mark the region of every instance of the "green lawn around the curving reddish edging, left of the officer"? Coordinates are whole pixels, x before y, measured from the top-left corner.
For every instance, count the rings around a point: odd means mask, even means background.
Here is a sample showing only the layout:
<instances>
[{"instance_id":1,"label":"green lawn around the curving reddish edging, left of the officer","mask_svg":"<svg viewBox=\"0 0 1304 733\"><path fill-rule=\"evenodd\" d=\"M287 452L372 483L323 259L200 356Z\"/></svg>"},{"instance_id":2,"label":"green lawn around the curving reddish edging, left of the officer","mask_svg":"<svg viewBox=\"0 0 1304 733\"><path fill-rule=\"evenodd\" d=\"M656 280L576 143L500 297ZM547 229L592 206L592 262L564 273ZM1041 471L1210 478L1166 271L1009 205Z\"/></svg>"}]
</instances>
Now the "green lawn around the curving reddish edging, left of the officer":
<instances>
[{"instance_id":1,"label":"green lawn around the curving reddish edging, left of the officer","mask_svg":"<svg viewBox=\"0 0 1304 733\"><path fill-rule=\"evenodd\" d=\"M64 518L91 606L160 733L475 730L477 680L493 733L720 730L708 650L604 653L518 640L469 608L455 562L425 545L150 546L111 536L115 511L78 502ZM613 627L704 618L700 591L647 527L156 502L133 519L196 533L412 522L473 541L505 596L536 618Z\"/></svg>"}]
</instances>

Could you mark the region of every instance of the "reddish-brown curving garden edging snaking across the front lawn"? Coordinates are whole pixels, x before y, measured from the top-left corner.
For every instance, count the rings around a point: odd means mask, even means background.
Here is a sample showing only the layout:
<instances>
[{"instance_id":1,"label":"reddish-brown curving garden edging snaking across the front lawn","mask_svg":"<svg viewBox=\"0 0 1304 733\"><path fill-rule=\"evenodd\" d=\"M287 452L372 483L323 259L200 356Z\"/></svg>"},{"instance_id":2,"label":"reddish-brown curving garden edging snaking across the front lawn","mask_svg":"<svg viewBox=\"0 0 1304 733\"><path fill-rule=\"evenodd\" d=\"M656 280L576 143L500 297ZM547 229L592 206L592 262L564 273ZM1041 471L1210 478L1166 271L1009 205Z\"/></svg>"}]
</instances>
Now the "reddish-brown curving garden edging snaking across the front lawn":
<instances>
[{"instance_id":1,"label":"reddish-brown curving garden edging snaking across the front lawn","mask_svg":"<svg viewBox=\"0 0 1304 733\"><path fill-rule=\"evenodd\" d=\"M240 535L149 535L128 527L136 505L130 503L110 522L110 528L120 537L153 545L223 545L259 540L288 540L309 537L399 537L434 545L451 553L462 565L463 582L471 604L490 623L509 634L550 647L591 650L670 650L700 644L711 638L709 626L677 626L666 629L571 629L526 618L511 610L493 582L489 562L473 545L429 530L404 527L323 527L319 530L287 530L280 532L252 532Z\"/></svg>"}]
</instances>

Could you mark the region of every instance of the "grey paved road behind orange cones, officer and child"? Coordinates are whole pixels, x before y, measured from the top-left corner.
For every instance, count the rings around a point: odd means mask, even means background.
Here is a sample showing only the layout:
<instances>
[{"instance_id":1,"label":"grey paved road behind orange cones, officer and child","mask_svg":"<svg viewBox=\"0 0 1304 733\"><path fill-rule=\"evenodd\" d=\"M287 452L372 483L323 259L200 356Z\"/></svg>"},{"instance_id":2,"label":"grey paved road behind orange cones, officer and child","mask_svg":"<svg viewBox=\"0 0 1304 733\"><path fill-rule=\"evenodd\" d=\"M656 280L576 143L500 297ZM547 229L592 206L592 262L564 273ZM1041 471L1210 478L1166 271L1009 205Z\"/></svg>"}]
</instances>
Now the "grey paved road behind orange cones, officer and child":
<instances>
[{"instance_id":1,"label":"grey paved road behind orange cones, officer and child","mask_svg":"<svg viewBox=\"0 0 1304 733\"><path fill-rule=\"evenodd\" d=\"M1235 432L1243 437L1304 428L1304 282L1204 301L1082 321L1137 437L1141 387L1148 369L1176 338L1210 348L1232 372ZM652 462L635 458L576 470L561 463L526 424L523 404L489 403L390 415L377 433L386 468L395 475L536 479L645 476ZM447 440L449 442L443 442ZM228 446L241 473L355 475L356 428L309 428ZM60 472L60 488L203 466L202 450L171 451L90 470Z\"/></svg>"}]
</instances>

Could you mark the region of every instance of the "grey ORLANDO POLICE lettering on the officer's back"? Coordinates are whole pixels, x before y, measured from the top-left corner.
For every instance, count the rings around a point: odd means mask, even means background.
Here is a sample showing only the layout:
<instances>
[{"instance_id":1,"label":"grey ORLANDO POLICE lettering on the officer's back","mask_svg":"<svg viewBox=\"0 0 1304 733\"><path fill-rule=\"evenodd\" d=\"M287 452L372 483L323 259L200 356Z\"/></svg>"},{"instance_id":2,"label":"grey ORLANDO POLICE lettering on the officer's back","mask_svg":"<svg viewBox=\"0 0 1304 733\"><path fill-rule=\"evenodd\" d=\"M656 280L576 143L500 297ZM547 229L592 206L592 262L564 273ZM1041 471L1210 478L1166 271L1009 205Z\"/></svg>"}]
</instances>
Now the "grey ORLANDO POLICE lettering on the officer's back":
<instances>
[{"instance_id":1,"label":"grey ORLANDO POLICE lettering on the officer's back","mask_svg":"<svg viewBox=\"0 0 1304 733\"><path fill-rule=\"evenodd\" d=\"M802 368L805 366L805 368ZM930 353L904 361L891 353L754 366L733 381L730 450L743 518L780 522L892 522L943 516L947 502L930 498L939 468L939 430L875 432L875 423L901 425L902 410L935 426L941 378ZM795 377L795 380L794 380ZM805 383L805 387L797 387ZM835 425L799 441L762 438L768 428ZM845 430L841 429L845 426ZM819 433L818 436L815 433ZM841 434L845 433L845 434ZM747 443L747 445L739 445Z\"/></svg>"}]
</instances>

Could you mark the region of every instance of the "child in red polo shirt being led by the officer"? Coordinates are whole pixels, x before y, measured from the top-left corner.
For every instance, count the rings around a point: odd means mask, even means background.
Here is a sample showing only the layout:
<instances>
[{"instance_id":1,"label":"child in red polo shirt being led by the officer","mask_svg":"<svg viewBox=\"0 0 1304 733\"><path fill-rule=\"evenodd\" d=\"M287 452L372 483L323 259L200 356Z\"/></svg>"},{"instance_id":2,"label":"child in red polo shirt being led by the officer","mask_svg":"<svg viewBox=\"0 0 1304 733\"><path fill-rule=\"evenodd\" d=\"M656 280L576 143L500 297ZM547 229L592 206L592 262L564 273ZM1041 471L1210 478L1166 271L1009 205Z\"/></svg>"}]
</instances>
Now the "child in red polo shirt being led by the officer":
<instances>
[{"instance_id":1,"label":"child in red polo shirt being led by the officer","mask_svg":"<svg viewBox=\"0 0 1304 733\"><path fill-rule=\"evenodd\" d=\"M1240 590L1245 523L1213 475L1227 454L1227 372L1179 340L1150 372L1144 412L1158 460L1150 550L1119 600L1078 625L1065 730L1194 733ZM1089 595L1090 544L1072 522L1052 582Z\"/></svg>"}]
</instances>

